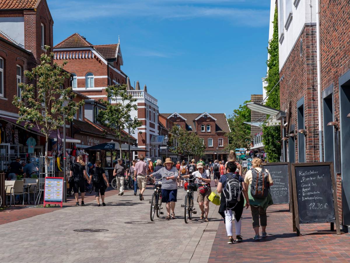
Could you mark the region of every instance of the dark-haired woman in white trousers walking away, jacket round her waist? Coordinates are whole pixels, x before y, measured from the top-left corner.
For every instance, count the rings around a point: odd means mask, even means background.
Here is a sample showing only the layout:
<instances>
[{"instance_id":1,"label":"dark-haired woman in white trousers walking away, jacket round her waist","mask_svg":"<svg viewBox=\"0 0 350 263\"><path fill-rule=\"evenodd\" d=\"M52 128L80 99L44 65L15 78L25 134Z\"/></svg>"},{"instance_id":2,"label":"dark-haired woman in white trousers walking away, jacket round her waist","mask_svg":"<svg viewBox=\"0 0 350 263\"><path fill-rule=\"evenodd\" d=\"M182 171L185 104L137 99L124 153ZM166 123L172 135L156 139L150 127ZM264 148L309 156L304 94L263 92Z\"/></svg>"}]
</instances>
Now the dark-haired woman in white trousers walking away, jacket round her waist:
<instances>
[{"instance_id":1,"label":"dark-haired woman in white trousers walking away, jacket round her waist","mask_svg":"<svg viewBox=\"0 0 350 263\"><path fill-rule=\"evenodd\" d=\"M220 200L219 214L224 218L226 233L229 237L229 241L227 243L233 244L234 240L233 240L233 234L232 234L232 220L235 221L236 241L241 242L243 241L241 236L241 226L242 226L241 216L242 216L243 207L244 207L243 195L247 200L245 204L247 208L249 207L249 200L248 200L248 193L247 193L246 186L243 183L244 182L243 177L235 173L237 169L237 164L235 162L229 161L226 163L226 167L227 167L228 173L221 176L217 187L218 193L222 193L226 191L226 183L232 178L235 178L235 180L238 181L242 187L242 191L239 196L239 201L233 207L227 207L226 197L223 193L221 194L221 200Z\"/></svg>"}]
</instances>

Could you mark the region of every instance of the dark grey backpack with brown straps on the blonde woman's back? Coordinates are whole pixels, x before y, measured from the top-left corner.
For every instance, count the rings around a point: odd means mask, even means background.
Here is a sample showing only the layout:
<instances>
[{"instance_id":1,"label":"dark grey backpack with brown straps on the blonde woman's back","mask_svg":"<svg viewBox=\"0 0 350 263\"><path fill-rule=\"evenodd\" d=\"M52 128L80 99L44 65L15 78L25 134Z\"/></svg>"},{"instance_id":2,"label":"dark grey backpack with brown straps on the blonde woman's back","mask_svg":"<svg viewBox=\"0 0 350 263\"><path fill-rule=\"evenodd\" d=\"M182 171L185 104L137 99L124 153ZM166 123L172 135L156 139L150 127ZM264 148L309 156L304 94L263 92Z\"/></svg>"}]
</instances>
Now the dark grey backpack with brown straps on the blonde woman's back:
<instances>
[{"instance_id":1,"label":"dark grey backpack with brown straps on the blonde woman's back","mask_svg":"<svg viewBox=\"0 0 350 263\"><path fill-rule=\"evenodd\" d=\"M250 185L250 193L252 197L265 198L270 191L270 184L268 182L268 174L264 173L264 167L259 172L252 168L252 184Z\"/></svg>"}]
</instances>

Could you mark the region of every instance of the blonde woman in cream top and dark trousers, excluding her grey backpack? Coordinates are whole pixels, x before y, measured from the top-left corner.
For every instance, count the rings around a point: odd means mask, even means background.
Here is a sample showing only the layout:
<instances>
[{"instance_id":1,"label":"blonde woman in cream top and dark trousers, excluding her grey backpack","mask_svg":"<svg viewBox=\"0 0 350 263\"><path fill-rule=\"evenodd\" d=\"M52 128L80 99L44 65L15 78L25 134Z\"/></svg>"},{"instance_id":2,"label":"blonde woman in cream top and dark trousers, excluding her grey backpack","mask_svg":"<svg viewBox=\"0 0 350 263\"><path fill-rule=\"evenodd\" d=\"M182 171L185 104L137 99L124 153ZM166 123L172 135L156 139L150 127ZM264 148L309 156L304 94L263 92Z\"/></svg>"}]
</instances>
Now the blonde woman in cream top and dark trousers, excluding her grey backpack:
<instances>
[{"instance_id":1,"label":"blonde woman in cream top and dark trousers, excluding her grey backpack","mask_svg":"<svg viewBox=\"0 0 350 263\"><path fill-rule=\"evenodd\" d=\"M254 198L251 195L250 188L252 184L253 173L256 175L257 173L261 173L261 164L262 160L260 158L255 157L252 161L252 169L248 170L244 177L244 183L246 188L248 189L249 203L250 209L252 210L252 218L253 218L253 229L255 231L254 240L260 240L259 236L259 227L261 225L261 236L266 237L266 226L267 226L267 217L266 217L266 209L270 205L273 204L271 194L268 193L268 196L265 198ZM253 171L255 170L255 171ZM265 169L265 174L268 175L269 186L273 185L272 177L268 170ZM259 225L259 217L260 217L260 225Z\"/></svg>"}]
</instances>

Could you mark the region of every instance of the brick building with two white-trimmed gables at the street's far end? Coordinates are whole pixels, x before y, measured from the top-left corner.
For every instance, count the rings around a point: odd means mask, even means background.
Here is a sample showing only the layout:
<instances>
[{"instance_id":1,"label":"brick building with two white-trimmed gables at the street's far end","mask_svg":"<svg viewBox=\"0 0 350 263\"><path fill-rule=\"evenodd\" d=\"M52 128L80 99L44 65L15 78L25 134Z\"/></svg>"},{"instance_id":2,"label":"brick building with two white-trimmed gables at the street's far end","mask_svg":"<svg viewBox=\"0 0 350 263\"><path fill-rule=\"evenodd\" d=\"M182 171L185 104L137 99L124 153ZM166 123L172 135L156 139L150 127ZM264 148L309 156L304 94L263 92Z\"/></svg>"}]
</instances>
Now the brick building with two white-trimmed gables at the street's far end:
<instances>
[{"instance_id":1,"label":"brick building with two white-trimmed gables at the street's far end","mask_svg":"<svg viewBox=\"0 0 350 263\"><path fill-rule=\"evenodd\" d=\"M162 113L164 117L174 122L176 126L195 132L203 139L205 145L205 162L215 159L227 160L229 143L226 133L230 127L225 113Z\"/></svg>"}]
</instances>

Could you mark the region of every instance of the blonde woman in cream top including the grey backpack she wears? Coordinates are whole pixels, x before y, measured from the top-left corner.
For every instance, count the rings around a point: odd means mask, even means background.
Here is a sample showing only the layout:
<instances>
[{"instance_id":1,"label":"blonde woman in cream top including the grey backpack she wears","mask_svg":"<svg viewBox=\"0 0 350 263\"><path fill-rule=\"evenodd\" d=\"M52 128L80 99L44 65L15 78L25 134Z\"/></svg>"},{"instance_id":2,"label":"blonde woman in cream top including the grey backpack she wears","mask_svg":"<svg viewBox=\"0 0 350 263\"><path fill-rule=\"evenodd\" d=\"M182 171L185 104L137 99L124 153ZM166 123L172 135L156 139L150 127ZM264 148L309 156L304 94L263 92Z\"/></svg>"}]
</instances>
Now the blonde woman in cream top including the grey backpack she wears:
<instances>
[{"instance_id":1,"label":"blonde woman in cream top including the grey backpack she wears","mask_svg":"<svg viewBox=\"0 0 350 263\"><path fill-rule=\"evenodd\" d=\"M267 169L263 172L265 180L258 180L261 175L262 160L255 157L252 161L252 169L248 170L244 177L244 183L248 189L249 203L252 210L253 229L255 231L254 240L260 240L259 227L261 225L261 236L266 237L266 209L273 204L268 188L273 185L272 177ZM253 183L253 184L252 184ZM264 184L263 184L264 183ZM258 186L258 189L255 186ZM256 190L255 190L256 189ZM263 190L263 189L266 189ZM259 225L260 217L260 225Z\"/></svg>"}]
</instances>

